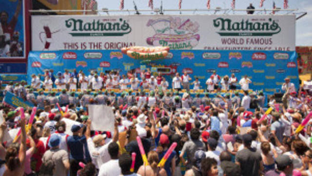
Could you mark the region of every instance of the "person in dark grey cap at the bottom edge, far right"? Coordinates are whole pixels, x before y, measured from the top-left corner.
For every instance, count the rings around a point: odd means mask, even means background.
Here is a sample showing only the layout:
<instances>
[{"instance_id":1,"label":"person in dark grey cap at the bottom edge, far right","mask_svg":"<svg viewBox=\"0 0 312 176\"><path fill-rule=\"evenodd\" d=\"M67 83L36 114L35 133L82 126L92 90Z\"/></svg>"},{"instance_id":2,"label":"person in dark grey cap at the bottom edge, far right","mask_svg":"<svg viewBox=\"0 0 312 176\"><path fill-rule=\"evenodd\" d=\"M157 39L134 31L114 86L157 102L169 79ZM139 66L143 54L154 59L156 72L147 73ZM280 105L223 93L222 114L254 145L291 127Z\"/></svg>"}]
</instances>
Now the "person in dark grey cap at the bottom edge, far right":
<instances>
[{"instance_id":1,"label":"person in dark grey cap at the bottom edge, far right","mask_svg":"<svg viewBox=\"0 0 312 176\"><path fill-rule=\"evenodd\" d=\"M285 176L292 176L293 164L290 156L282 154L275 159L276 169L268 171L265 176L281 176L282 173Z\"/></svg>"}]
</instances>

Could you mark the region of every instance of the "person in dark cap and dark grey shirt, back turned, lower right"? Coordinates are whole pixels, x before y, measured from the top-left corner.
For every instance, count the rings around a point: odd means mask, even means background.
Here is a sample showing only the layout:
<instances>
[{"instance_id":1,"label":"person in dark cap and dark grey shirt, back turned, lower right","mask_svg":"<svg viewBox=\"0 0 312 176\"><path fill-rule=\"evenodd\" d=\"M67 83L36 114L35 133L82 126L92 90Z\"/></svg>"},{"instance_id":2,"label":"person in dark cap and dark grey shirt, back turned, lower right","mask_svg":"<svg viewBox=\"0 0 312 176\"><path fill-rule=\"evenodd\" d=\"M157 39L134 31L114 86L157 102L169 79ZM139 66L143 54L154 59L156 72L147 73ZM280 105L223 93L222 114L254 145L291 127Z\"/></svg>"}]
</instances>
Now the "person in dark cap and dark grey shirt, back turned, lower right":
<instances>
[{"instance_id":1,"label":"person in dark cap and dark grey shirt, back turned, lower right","mask_svg":"<svg viewBox=\"0 0 312 176\"><path fill-rule=\"evenodd\" d=\"M242 176L260 176L263 170L262 157L251 147L253 137L246 133L242 138L244 149L236 153L235 163L240 166Z\"/></svg>"}]
</instances>

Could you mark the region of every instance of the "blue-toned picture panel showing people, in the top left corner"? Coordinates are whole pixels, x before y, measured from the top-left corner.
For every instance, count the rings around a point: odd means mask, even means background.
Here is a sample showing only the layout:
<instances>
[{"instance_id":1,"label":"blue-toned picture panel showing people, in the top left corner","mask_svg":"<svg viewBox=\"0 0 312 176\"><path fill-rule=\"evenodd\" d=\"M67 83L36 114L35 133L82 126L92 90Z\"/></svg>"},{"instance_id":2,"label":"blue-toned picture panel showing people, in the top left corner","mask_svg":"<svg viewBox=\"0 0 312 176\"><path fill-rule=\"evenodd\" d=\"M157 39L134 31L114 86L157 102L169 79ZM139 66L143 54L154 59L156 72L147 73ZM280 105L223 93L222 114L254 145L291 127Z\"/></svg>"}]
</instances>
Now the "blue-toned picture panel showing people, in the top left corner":
<instances>
[{"instance_id":1,"label":"blue-toned picture panel showing people, in the top left corner","mask_svg":"<svg viewBox=\"0 0 312 176\"><path fill-rule=\"evenodd\" d=\"M24 0L0 2L0 59L25 58Z\"/></svg>"}]
</instances>

